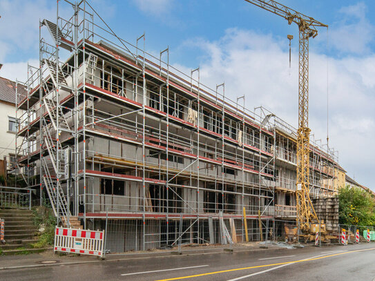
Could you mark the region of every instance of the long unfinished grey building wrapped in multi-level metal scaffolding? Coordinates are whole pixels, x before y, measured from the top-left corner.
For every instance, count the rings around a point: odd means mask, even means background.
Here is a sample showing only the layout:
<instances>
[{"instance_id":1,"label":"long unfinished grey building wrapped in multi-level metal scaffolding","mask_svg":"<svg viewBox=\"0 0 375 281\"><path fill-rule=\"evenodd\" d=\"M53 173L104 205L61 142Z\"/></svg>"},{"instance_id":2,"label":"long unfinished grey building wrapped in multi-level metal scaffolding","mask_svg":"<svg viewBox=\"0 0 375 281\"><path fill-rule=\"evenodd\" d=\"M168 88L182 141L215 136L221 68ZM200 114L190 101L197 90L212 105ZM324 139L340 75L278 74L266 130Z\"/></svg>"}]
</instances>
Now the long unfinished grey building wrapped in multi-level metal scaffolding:
<instances>
[{"instance_id":1,"label":"long unfinished grey building wrapped in multi-level metal scaffolding","mask_svg":"<svg viewBox=\"0 0 375 281\"><path fill-rule=\"evenodd\" d=\"M57 5L73 16L40 22L39 66L17 93L18 166L35 200L106 229L117 252L218 243L220 215L244 241L243 209L249 240L295 223L296 128L204 86L199 68L184 75L169 49L148 54L144 35L119 39L88 2ZM310 195L330 197L336 153L313 137Z\"/></svg>"}]
</instances>

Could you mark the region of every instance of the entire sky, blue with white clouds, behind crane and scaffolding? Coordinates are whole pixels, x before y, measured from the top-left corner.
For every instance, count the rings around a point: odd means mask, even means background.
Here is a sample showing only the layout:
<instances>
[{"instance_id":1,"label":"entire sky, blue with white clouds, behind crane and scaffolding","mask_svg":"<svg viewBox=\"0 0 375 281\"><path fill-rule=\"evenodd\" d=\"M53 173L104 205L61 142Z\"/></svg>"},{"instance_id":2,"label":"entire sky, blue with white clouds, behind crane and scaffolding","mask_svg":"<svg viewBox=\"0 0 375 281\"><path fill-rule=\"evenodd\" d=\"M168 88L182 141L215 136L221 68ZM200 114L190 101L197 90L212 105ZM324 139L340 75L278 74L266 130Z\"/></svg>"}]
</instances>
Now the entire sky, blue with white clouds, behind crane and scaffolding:
<instances>
[{"instance_id":1,"label":"entire sky, blue with white clouds, behind crane and scaffolding","mask_svg":"<svg viewBox=\"0 0 375 281\"><path fill-rule=\"evenodd\" d=\"M119 37L135 43L145 32L149 52L169 46L173 66L186 72L200 66L203 84L225 81L233 99L245 95L248 108L265 106L297 125L296 25L242 0L90 3ZM325 143L328 94L329 144L348 175L375 190L375 1L282 3L329 25L310 40L310 128ZM0 76L22 80L27 62L37 64L39 18L55 20L55 9L55 1L0 0Z\"/></svg>"}]
</instances>

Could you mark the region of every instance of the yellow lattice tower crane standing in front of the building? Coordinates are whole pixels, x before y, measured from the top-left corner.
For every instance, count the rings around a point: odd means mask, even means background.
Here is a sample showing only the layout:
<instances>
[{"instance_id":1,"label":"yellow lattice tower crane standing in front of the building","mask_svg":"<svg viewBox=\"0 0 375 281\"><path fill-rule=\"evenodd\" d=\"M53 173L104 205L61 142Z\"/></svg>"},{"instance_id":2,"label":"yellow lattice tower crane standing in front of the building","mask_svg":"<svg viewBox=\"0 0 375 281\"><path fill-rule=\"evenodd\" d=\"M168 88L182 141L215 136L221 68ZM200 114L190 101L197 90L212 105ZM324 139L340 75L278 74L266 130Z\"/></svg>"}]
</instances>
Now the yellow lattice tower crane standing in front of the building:
<instances>
[{"instance_id":1,"label":"yellow lattice tower crane standing in front of the building","mask_svg":"<svg viewBox=\"0 0 375 281\"><path fill-rule=\"evenodd\" d=\"M318 35L316 27L328 26L276 1L245 1L283 17L289 24L296 23L299 29L297 223L302 231L308 232L310 223L318 222L318 217L309 197L309 38L315 38Z\"/></svg>"}]
</instances>

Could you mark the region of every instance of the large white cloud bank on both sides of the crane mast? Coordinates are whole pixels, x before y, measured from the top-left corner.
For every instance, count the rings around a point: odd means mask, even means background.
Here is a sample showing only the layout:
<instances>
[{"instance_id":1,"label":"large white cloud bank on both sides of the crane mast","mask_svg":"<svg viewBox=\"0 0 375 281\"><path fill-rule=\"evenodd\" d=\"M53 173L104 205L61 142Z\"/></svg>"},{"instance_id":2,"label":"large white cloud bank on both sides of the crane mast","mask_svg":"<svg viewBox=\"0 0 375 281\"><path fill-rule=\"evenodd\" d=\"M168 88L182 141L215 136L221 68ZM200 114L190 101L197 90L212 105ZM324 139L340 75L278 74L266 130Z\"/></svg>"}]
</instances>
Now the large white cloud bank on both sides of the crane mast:
<instances>
[{"instance_id":1,"label":"large white cloud bank on both sides of the crane mast","mask_svg":"<svg viewBox=\"0 0 375 281\"><path fill-rule=\"evenodd\" d=\"M292 52L291 70L286 41L253 31L229 29L218 41L194 39L183 48L201 48L202 84L215 88L225 80L226 95L245 95L247 108L263 105L297 126L298 53ZM310 52L309 126L315 139L327 137L327 77L329 145L339 151L340 164L370 188L375 147L375 55L327 57ZM179 66L180 67L180 66ZM328 73L327 73L328 67ZM183 68L185 72L189 70ZM186 71L187 70L187 71ZM328 76L327 76L328 74ZM366 156L358 157L365 149ZM369 155L372 155L371 157Z\"/></svg>"}]
</instances>

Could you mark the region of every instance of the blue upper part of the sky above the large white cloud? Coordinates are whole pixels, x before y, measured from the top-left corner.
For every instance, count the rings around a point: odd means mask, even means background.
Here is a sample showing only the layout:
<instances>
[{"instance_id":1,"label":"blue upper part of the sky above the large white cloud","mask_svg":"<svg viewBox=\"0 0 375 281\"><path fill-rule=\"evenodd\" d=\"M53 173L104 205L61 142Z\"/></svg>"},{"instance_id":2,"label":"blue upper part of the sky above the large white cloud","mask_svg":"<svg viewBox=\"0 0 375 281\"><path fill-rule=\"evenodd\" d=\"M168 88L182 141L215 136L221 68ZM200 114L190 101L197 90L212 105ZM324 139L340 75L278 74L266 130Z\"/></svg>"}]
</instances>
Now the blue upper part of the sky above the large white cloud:
<instances>
[{"instance_id":1,"label":"blue upper part of the sky above the large white cloud","mask_svg":"<svg viewBox=\"0 0 375 281\"><path fill-rule=\"evenodd\" d=\"M187 42L195 39L216 41L224 36L225 30L228 28L253 30L257 33L272 35L282 41L282 48L285 50L289 48L286 35L291 34L295 38L292 45L294 48L298 48L296 25L289 26L285 19L242 0L93 0L90 3L120 37L133 42L137 36L146 32L146 48L148 50L160 50L169 45L172 61L183 63L191 68L200 64L202 54L199 54L193 46L189 46ZM320 28L319 37L310 42L311 48L317 48L320 53L333 57L343 57L349 54L364 55L366 53L362 48L356 52L336 48L338 43L331 41L330 35L331 30L336 32L343 26L349 27L347 32L352 31L353 26L357 26L358 23L369 23L373 28L375 19L370 17L370 14L375 10L374 1L318 0L311 3L307 0L285 0L282 3L329 25L328 36L325 28ZM19 11L22 6L23 8ZM9 44L11 47L8 47L7 56L1 58L3 62L15 62L37 57L37 38L32 36L37 32L39 18L55 19L55 6L55 1L46 0L0 1L2 16L0 22L5 21L6 26L14 29L3 30L0 34L8 33L5 39L10 38L12 41L18 41L18 43L11 42ZM347 9L350 6L352 6L352 10L348 12ZM28 14L32 14L32 17L26 18ZM29 33L26 38L19 37L24 31L22 28L26 27L19 24L19 21L32 28L34 32ZM361 35L368 34L362 30ZM347 39L349 38L341 38L338 41L342 43ZM374 35L371 34L367 39L361 39L369 47L368 54L374 48ZM27 47L20 46L20 44ZM18 46L15 48L15 45Z\"/></svg>"}]
</instances>

